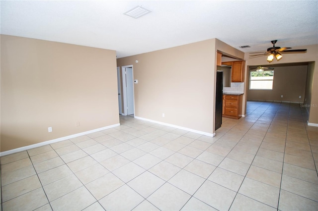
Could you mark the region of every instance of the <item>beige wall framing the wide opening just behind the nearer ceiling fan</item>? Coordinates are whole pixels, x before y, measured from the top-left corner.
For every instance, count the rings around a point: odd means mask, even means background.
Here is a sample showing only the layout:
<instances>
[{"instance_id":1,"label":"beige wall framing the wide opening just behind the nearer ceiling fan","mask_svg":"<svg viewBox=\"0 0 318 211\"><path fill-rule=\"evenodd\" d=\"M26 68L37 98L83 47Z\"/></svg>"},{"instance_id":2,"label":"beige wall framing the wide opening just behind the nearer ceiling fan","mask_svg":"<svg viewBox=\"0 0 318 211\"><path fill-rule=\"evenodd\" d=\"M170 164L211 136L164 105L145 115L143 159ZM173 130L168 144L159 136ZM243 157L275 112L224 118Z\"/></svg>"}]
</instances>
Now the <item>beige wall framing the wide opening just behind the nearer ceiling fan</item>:
<instances>
[{"instance_id":1,"label":"beige wall framing the wide opening just behind the nearer ceiling fan","mask_svg":"<svg viewBox=\"0 0 318 211\"><path fill-rule=\"evenodd\" d=\"M274 61L271 64L286 64L286 63L297 63L297 62L312 62L312 84L309 85L311 90L307 90L307 93L311 93L311 104L318 105L318 45L310 46L299 46L293 49L307 49L307 53L285 53L280 61ZM255 65L267 65L266 56L260 56L257 58L248 58L249 54L245 53L246 67ZM245 82L247 79L247 71L245 72ZM307 80L308 82L308 80ZM246 84L246 83L245 83ZM247 89L248 87L246 87ZM247 90L246 90L247 91ZM246 110L246 104L243 105L244 110ZM309 114L309 122L313 124L318 124L318 107L311 107Z\"/></svg>"}]
</instances>

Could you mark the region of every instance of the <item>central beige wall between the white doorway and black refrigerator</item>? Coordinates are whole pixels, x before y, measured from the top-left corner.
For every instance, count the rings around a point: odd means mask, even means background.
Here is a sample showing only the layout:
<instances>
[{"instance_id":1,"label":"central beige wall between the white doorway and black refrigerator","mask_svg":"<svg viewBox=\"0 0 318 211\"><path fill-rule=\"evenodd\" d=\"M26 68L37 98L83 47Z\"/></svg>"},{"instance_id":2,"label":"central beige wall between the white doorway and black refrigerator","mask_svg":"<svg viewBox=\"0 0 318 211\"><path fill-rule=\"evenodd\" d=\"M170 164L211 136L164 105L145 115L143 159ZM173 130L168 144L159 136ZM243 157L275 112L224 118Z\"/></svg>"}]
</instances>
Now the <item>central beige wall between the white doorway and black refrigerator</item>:
<instances>
[{"instance_id":1,"label":"central beige wall between the white doorway and black refrigerator","mask_svg":"<svg viewBox=\"0 0 318 211\"><path fill-rule=\"evenodd\" d=\"M214 133L215 39L117 59L131 64L136 116Z\"/></svg>"}]
</instances>

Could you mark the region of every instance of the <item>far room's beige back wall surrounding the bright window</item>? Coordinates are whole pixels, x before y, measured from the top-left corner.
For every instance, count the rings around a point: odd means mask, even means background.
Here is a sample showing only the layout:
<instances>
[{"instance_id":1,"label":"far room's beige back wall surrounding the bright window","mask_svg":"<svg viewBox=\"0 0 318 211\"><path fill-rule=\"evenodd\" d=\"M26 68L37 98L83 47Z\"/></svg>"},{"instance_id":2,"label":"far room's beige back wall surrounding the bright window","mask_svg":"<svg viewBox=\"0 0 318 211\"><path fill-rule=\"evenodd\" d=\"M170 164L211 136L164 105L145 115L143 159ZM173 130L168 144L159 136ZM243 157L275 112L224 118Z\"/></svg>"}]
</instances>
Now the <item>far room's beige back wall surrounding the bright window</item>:
<instances>
[{"instance_id":1,"label":"far room's beige back wall surrounding the bright window","mask_svg":"<svg viewBox=\"0 0 318 211\"><path fill-rule=\"evenodd\" d=\"M249 78L250 74L247 75L247 83ZM250 90L247 87L247 100L304 103L306 80L307 65L275 67L273 90Z\"/></svg>"}]
</instances>

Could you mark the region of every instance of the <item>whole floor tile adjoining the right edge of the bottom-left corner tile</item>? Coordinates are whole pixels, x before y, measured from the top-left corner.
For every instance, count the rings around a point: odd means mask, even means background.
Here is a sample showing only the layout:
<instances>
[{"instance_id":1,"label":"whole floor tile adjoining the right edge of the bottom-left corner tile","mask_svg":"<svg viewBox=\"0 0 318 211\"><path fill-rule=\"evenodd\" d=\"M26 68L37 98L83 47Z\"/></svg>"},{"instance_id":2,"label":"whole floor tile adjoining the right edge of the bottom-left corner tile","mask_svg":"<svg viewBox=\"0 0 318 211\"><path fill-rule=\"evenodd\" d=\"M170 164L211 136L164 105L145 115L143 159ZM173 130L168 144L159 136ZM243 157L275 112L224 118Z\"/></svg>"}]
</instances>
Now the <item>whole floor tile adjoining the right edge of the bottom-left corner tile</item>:
<instances>
[{"instance_id":1,"label":"whole floor tile adjoining the right edge of the bottom-left corner tile","mask_svg":"<svg viewBox=\"0 0 318 211\"><path fill-rule=\"evenodd\" d=\"M49 201L52 202L61 196L78 189L82 185L83 184L79 181L79 179L74 174L71 174L67 177L43 186L43 189Z\"/></svg>"}]
</instances>

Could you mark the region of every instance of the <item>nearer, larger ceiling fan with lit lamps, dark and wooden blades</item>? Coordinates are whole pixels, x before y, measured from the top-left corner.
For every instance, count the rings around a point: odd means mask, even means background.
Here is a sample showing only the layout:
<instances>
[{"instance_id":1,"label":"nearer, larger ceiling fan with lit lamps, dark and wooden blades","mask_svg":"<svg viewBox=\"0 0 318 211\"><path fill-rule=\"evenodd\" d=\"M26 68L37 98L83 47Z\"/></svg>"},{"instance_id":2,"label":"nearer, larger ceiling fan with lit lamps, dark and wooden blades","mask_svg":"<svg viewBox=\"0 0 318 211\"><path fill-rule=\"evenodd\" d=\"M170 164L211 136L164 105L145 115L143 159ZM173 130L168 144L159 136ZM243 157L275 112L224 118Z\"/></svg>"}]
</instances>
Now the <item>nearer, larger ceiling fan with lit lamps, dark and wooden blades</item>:
<instances>
[{"instance_id":1,"label":"nearer, larger ceiling fan with lit lamps, dark and wooden blades","mask_svg":"<svg viewBox=\"0 0 318 211\"><path fill-rule=\"evenodd\" d=\"M256 55L250 55L250 58L255 58L258 56L263 56L263 55L268 55L267 56L267 61L270 63L273 61L274 57L276 57L277 61L279 61L283 55L281 53L306 53L307 49L298 49L298 50L287 50L291 49L289 47L276 47L277 40L272 40L271 43L273 44L273 47L268 48L267 52L254 52L254 53L262 53L262 54L256 54Z\"/></svg>"}]
</instances>

